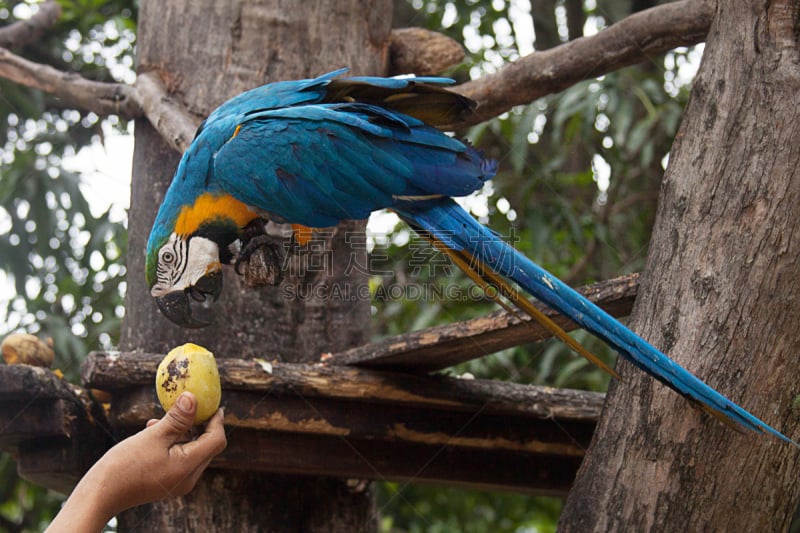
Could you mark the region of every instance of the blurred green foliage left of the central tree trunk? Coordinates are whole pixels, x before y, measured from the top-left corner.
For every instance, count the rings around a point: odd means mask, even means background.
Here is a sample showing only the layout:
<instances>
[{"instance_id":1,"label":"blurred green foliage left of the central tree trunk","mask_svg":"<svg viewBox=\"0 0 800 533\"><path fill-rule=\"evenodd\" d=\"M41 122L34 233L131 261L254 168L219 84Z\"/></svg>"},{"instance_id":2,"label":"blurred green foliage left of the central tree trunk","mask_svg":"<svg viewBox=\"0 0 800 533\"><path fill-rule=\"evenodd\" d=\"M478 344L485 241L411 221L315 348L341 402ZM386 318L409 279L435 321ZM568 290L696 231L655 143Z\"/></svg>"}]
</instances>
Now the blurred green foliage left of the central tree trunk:
<instances>
[{"instance_id":1,"label":"blurred green foliage left of the central tree trunk","mask_svg":"<svg viewBox=\"0 0 800 533\"><path fill-rule=\"evenodd\" d=\"M0 26L28 17L34 2L0 2ZM130 79L131 1L62 1L58 23L15 53L96 80ZM95 213L88 184L65 161L102 141L93 113L0 80L0 337L26 330L52 337L55 366L77 381L92 349L109 347L123 314L124 213ZM116 117L106 121L126 125ZM11 290L11 294L9 294ZM0 530L41 531L63 497L16 476L0 455Z\"/></svg>"}]
</instances>

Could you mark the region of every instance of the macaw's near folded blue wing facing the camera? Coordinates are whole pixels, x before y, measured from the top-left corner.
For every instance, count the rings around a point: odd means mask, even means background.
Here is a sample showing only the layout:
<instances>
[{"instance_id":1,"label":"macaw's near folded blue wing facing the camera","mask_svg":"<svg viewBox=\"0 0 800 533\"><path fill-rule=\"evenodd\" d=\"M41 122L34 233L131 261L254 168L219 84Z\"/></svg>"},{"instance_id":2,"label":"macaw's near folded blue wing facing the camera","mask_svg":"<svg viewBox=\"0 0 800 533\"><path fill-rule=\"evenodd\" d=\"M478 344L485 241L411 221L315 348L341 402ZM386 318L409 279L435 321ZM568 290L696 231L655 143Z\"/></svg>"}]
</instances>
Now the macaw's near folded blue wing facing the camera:
<instances>
[{"instance_id":1,"label":"macaw's near folded blue wing facing the camera","mask_svg":"<svg viewBox=\"0 0 800 533\"><path fill-rule=\"evenodd\" d=\"M370 104L253 113L216 154L213 185L310 227L363 219L409 197L463 196L494 174L474 148Z\"/></svg>"}]
</instances>

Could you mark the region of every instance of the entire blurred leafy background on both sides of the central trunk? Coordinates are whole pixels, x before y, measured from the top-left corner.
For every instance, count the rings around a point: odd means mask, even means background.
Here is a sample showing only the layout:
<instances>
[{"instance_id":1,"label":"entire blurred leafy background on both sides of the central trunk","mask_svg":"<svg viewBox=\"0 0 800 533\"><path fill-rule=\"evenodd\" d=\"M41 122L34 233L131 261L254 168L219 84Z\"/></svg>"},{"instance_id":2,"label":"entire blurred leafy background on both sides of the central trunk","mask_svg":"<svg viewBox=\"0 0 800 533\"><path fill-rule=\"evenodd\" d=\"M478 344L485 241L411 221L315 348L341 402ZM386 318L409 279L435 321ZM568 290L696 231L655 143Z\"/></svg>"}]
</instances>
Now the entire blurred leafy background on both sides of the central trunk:
<instances>
[{"instance_id":1,"label":"entire blurred leafy background on both sides of the central trunk","mask_svg":"<svg viewBox=\"0 0 800 533\"><path fill-rule=\"evenodd\" d=\"M91 79L132 82L136 3L59 3L57 25L14 51ZM396 0L394 24L427 27L463 43L466 60L446 74L466 81L655 3ZM36 2L0 1L0 27L35 10ZM458 132L500 161L497 178L465 205L573 285L640 270L666 157L701 52L669 52ZM55 366L73 381L89 351L109 349L117 338L126 248L124 209L108 205L97 180L78 169L97 153L91 150L125 132L129 125L117 117L66 109L56 98L0 80L0 336L25 330L53 337ZM429 290L433 297L421 306L425 290L409 287L470 283L393 215L379 213L369 227L376 338L494 309L472 291L445 298L448 293ZM403 290L392 290L397 287ZM613 358L602 343L574 335ZM559 342L505 350L450 371L591 390L608 383ZM20 480L5 454L0 491L0 530L38 531L62 501ZM383 531L528 532L554 530L561 501L383 483L378 508Z\"/></svg>"}]
</instances>

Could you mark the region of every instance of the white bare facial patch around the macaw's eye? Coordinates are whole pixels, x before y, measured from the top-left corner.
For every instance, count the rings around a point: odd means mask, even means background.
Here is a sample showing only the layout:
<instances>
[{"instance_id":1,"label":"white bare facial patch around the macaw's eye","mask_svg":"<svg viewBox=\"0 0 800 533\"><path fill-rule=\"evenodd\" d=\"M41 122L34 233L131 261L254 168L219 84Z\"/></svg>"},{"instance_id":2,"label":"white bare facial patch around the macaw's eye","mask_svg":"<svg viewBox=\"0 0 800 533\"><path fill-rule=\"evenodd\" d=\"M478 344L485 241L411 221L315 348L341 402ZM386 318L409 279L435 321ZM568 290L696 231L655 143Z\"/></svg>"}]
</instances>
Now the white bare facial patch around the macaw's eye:
<instances>
[{"instance_id":1,"label":"white bare facial patch around the macaw's eye","mask_svg":"<svg viewBox=\"0 0 800 533\"><path fill-rule=\"evenodd\" d=\"M199 236L187 241L173 233L158 250L156 283L150 294L159 297L185 290L206 274L218 272L221 268L217 243Z\"/></svg>"}]
</instances>

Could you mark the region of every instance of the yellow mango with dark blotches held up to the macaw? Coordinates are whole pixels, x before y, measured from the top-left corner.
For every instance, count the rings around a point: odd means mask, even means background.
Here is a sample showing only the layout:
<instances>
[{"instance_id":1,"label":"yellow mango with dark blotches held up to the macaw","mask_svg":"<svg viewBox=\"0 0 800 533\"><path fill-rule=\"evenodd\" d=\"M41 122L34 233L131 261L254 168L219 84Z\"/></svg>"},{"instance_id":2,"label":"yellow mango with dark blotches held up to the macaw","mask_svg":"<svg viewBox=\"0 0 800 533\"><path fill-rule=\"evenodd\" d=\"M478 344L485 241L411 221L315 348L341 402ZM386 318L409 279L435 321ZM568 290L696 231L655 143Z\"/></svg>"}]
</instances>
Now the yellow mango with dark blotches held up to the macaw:
<instances>
[{"instance_id":1,"label":"yellow mango with dark blotches held up to the macaw","mask_svg":"<svg viewBox=\"0 0 800 533\"><path fill-rule=\"evenodd\" d=\"M202 424L217 411L222 397L217 361L214 354L197 344L173 348L156 372L156 394L165 411L169 411L184 391L197 398L195 425Z\"/></svg>"}]
</instances>

